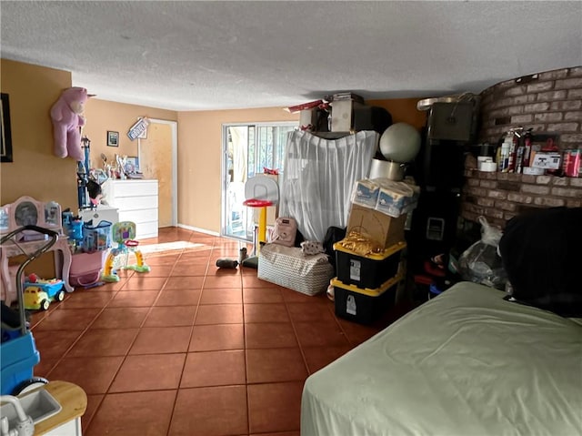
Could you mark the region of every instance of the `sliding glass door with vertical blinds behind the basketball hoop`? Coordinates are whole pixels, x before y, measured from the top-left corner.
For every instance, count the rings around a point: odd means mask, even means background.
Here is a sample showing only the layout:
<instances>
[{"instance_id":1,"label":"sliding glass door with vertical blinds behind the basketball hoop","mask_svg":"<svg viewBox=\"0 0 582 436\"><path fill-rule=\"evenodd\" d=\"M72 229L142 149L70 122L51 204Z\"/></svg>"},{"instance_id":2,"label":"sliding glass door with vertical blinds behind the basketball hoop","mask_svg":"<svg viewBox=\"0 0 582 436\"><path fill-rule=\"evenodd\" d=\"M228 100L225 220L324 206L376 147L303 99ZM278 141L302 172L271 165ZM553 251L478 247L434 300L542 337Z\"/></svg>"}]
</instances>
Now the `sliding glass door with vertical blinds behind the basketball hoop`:
<instances>
[{"instance_id":1,"label":"sliding glass door with vertical blinds behind the basketball hoop","mask_svg":"<svg viewBox=\"0 0 582 436\"><path fill-rule=\"evenodd\" d=\"M246 180L266 169L283 171L287 133L296 126L295 122L223 126L222 236L253 241L253 209L243 205Z\"/></svg>"}]
</instances>

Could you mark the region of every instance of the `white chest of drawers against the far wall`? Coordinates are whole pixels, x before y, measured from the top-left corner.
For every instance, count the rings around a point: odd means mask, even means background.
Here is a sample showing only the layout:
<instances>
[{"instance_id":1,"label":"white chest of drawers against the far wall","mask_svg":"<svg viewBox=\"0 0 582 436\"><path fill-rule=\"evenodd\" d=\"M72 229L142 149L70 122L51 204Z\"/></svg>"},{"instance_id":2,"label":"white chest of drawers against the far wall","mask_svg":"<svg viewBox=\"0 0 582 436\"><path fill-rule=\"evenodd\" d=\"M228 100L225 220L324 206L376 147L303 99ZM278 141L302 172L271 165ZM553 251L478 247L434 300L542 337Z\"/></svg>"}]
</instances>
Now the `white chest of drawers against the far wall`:
<instances>
[{"instance_id":1,"label":"white chest of drawers against the far wall","mask_svg":"<svg viewBox=\"0 0 582 436\"><path fill-rule=\"evenodd\" d=\"M157 180L109 179L102 190L107 205L117 208L120 222L135 222L136 239L157 237Z\"/></svg>"}]
</instances>

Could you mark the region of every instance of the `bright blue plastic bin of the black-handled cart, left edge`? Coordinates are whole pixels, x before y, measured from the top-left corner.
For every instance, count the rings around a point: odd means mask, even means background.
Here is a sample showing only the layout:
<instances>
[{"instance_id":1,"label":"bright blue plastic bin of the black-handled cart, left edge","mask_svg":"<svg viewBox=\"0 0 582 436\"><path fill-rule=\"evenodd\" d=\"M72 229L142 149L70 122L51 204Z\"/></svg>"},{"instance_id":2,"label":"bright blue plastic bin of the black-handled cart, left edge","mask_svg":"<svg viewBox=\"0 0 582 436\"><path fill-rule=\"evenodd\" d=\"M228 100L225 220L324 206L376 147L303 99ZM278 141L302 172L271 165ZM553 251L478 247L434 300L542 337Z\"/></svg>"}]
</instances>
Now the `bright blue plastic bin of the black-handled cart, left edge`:
<instances>
[{"instance_id":1,"label":"bright blue plastic bin of the black-handled cart, left edge","mask_svg":"<svg viewBox=\"0 0 582 436\"><path fill-rule=\"evenodd\" d=\"M22 382L33 377L33 367L40 361L31 333L2 343L0 394L10 395Z\"/></svg>"}]
</instances>

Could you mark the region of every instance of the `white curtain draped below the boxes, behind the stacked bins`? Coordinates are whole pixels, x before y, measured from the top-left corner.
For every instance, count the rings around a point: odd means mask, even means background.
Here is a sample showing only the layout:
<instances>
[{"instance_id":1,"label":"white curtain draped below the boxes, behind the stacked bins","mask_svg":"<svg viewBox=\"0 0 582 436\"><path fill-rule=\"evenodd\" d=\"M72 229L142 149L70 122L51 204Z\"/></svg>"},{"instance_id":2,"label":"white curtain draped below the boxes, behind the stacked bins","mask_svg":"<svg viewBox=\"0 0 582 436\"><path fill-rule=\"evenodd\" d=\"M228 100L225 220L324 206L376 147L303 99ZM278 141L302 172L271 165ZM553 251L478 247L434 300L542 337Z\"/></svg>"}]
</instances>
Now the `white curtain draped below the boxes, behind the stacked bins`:
<instances>
[{"instance_id":1,"label":"white curtain draped below the boxes, behind the stacked bins","mask_svg":"<svg viewBox=\"0 0 582 436\"><path fill-rule=\"evenodd\" d=\"M339 139L289 132L279 217L292 217L306 239L323 241L327 228L347 225L354 182L366 178L378 134L361 131Z\"/></svg>"}]
</instances>

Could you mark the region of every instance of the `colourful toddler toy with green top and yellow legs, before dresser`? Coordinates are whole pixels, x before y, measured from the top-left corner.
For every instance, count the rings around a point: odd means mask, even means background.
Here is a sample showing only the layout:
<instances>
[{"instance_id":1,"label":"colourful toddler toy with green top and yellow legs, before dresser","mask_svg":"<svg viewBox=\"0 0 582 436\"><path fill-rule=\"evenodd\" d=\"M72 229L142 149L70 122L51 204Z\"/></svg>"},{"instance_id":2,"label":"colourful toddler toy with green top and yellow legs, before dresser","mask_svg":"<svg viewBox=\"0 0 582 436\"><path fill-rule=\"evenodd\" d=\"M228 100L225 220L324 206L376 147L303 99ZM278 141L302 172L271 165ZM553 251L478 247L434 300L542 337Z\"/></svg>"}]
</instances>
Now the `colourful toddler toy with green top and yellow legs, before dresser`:
<instances>
[{"instance_id":1,"label":"colourful toddler toy with green top and yellow legs, before dresser","mask_svg":"<svg viewBox=\"0 0 582 436\"><path fill-rule=\"evenodd\" d=\"M101 279L103 281L119 281L118 269L133 269L136 272L149 272L150 268L144 262L142 252L137 249L139 242L135 240L135 223L131 221L117 222L111 228L111 238L117 243L117 247L111 248ZM135 255L135 265L127 265L129 254Z\"/></svg>"}]
</instances>

